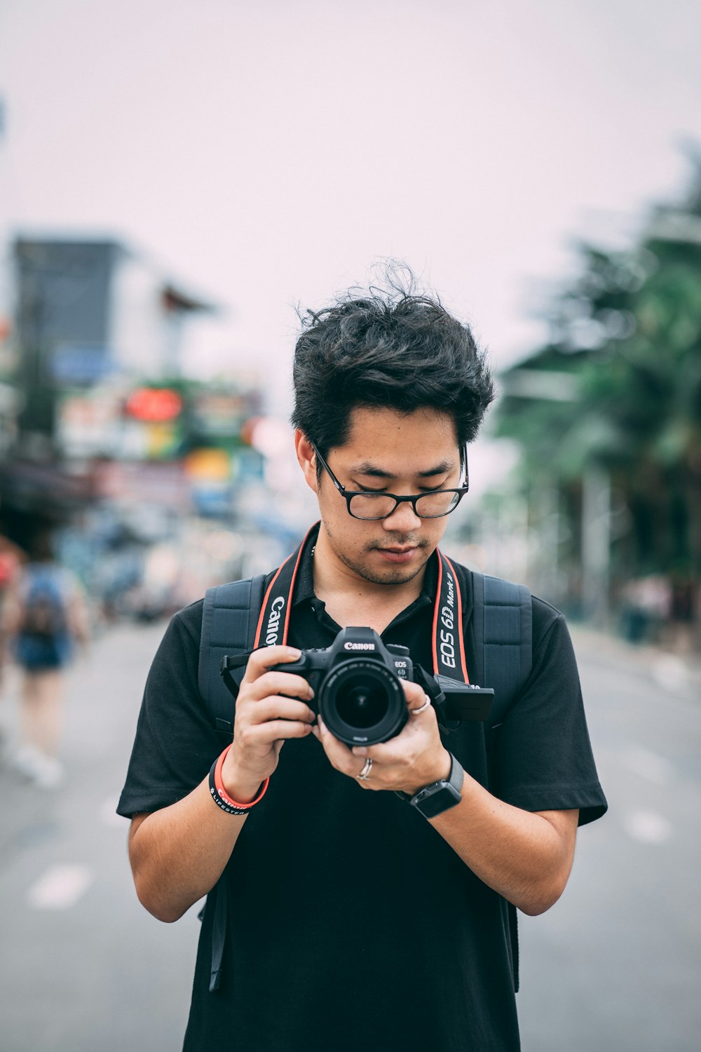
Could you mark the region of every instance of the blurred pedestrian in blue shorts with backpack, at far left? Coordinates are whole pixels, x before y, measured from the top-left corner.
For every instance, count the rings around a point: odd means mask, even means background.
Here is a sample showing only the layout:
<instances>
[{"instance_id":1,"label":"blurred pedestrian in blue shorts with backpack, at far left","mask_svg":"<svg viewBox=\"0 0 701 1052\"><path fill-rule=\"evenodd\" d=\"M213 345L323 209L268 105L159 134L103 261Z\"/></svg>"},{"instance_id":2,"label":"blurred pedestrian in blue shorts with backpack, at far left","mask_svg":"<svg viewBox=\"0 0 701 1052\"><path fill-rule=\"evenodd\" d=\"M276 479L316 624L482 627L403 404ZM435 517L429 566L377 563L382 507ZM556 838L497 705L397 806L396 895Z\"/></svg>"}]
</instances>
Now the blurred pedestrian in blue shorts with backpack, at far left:
<instances>
[{"instance_id":1,"label":"blurred pedestrian in blue shorts with backpack, at far left","mask_svg":"<svg viewBox=\"0 0 701 1052\"><path fill-rule=\"evenodd\" d=\"M55 788L64 778L63 673L76 643L87 642L87 616L80 584L56 561L48 529L36 534L29 561L8 590L2 636L22 672L13 765L36 785Z\"/></svg>"}]
</instances>

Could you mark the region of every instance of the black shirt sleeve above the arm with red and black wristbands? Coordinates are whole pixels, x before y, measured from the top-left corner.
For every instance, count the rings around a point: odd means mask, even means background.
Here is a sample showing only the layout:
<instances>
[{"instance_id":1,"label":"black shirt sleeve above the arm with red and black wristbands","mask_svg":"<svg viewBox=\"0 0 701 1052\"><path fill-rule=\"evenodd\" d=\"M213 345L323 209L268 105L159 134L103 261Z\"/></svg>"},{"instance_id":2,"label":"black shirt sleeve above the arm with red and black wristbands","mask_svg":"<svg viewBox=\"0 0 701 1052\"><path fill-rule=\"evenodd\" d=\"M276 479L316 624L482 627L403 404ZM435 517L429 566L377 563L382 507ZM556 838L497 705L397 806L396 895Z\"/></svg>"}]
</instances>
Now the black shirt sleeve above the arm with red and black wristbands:
<instances>
[{"instance_id":1,"label":"black shirt sleeve above the arm with red and black wristbands","mask_svg":"<svg viewBox=\"0 0 701 1052\"><path fill-rule=\"evenodd\" d=\"M181 610L153 658L117 808L127 818L182 800L224 748L198 689L201 624L202 603Z\"/></svg>"}]
</instances>

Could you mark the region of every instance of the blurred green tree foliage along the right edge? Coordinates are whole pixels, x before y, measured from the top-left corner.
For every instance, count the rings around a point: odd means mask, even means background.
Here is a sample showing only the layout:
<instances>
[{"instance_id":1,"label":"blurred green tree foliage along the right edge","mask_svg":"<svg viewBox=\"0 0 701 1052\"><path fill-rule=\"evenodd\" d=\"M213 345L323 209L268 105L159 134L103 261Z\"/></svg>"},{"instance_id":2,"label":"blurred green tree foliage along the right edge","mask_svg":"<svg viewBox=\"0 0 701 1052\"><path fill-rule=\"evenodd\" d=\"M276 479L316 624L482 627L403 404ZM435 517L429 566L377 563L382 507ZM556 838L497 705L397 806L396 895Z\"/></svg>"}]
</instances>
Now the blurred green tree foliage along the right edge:
<instances>
[{"instance_id":1,"label":"blurred green tree foliage along the right edge","mask_svg":"<svg viewBox=\"0 0 701 1052\"><path fill-rule=\"evenodd\" d=\"M700 190L683 213L659 209L631 251L580 247L551 342L510 370L571 373L574 397L518 397L508 372L497 413L527 479L545 466L572 487L590 466L609 469L627 509L614 551L627 575L701 573Z\"/></svg>"}]
</instances>

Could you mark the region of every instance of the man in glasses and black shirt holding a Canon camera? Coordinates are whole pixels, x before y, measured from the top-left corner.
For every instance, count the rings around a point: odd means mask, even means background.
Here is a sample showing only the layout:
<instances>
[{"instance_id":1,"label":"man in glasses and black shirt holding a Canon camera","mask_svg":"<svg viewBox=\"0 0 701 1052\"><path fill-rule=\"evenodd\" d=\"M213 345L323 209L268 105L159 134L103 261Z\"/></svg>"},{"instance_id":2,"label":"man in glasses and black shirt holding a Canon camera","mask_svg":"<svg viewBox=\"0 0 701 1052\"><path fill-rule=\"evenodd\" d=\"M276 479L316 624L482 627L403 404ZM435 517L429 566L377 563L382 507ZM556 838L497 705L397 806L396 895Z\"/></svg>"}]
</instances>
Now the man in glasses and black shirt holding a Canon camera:
<instances>
[{"instance_id":1,"label":"man in glasses and black shirt holding a Canon camera","mask_svg":"<svg viewBox=\"0 0 701 1052\"><path fill-rule=\"evenodd\" d=\"M442 730L422 687L404 682L399 733L349 746L316 719L307 679L271 670L348 626L432 668L436 547L467 489L489 371L438 302L373 290L310 316L294 392L321 525L298 559L290 645L250 655L222 752L198 690L202 604L181 611L153 661L120 801L151 913L176 920L217 885L184 1047L510 1052L508 904L552 906L578 823L606 806L562 616L533 600L532 672L494 730ZM451 568L469 672L472 578ZM397 795L416 801L434 783L448 800L434 817Z\"/></svg>"}]
</instances>

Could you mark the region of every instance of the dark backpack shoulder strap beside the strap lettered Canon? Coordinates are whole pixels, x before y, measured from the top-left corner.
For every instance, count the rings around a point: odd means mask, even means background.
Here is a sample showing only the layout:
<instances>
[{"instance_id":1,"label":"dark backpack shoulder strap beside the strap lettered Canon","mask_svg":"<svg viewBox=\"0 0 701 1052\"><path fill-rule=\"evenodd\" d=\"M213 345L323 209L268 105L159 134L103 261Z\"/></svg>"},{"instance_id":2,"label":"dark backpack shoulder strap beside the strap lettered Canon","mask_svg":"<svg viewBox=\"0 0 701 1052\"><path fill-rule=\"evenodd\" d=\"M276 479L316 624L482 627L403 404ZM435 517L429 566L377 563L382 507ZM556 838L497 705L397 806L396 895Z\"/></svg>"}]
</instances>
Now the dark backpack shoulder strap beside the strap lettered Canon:
<instances>
[{"instance_id":1,"label":"dark backpack shoulder strap beside the strap lettered Canon","mask_svg":"<svg viewBox=\"0 0 701 1052\"><path fill-rule=\"evenodd\" d=\"M260 573L244 581L208 588L202 608L202 632L198 686L215 730L233 733L233 700L220 675L225 654L252 650L259 613L263 606L266 576ZM245 669L232 672L238 682Z\"/></svg>"}]
</instances>

